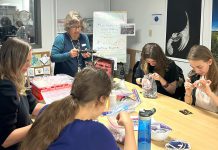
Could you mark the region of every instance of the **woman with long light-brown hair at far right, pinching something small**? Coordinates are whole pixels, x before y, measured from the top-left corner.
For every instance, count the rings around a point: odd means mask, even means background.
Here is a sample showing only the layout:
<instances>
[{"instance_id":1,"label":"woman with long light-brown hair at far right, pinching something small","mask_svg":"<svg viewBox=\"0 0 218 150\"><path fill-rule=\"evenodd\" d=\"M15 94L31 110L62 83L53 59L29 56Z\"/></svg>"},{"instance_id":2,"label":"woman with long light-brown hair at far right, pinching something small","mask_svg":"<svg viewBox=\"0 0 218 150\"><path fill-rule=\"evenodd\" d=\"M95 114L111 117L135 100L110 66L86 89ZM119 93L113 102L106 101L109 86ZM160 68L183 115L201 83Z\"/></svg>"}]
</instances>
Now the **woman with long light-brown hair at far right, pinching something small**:
<instances>
[{"instance_id":1,"label":"woman with long light-brown hair at far right, pinching something small","mask_svg":"<svg viewBox=\"0 0 218 150\"><path fill-rule=\"evenodd\" d=\"M218 113L218 67L212 53L195 45L187 59L193 70L185 82L185 102Z\"/></svg>"}]
</instances>

